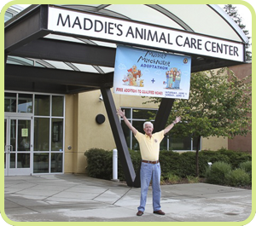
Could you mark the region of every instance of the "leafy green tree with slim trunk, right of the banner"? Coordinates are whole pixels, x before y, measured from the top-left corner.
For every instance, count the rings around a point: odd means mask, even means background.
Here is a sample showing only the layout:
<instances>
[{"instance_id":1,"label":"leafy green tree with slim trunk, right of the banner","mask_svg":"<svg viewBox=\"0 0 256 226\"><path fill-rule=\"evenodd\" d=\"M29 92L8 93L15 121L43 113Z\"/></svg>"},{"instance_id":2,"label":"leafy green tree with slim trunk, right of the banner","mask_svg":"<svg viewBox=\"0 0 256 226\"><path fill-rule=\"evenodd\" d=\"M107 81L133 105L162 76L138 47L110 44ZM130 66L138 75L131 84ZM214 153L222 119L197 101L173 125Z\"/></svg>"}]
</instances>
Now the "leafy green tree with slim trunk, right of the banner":
<instances>
[{"instance_id":1,"label":"leafy green tree with slim trunk, right of the banner","mask_svg":"<svg viewBox=\"0 0 256 226\"><path fill-rule=\"evenodd\" d=\"M201 137L246 135L251 125L251 80L239 79L229 68L191 74L189 100L174 101L167 124L177 115L182 123L172 136L192 136L196 143L196 175ZM160 98L151 98L160 102Z\"/></svg>"}]
</instances>

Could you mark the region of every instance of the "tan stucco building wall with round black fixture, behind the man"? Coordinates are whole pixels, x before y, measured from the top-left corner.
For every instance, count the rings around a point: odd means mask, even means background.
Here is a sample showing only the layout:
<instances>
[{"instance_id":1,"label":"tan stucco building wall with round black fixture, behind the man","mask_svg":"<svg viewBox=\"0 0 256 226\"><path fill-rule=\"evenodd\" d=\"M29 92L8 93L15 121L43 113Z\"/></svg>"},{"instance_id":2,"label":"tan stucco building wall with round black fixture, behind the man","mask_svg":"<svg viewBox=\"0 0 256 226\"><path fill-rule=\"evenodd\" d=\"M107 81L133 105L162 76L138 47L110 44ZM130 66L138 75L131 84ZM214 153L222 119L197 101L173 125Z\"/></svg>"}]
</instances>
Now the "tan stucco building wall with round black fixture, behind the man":
<instances>
[{"instance_id":1,"label":"tan stucco building wall with round black fixture, behind the man","mask_svg":"<svg viewBox=\"0 0 256 226\"><path fill-rule=\"evenodd\" d=\"M65 173L85 173L86 157L84 152L90 148L115 148L112 131L108 121L104 102L99 101L100 90L66 96L65 125ZM157 104L147 103L148 98L113 94L115 106L158 108ZM106 121L102 125L96 123L96 115L103 114ZM68 150L67 147L72 149ZM203 149L217 150L227 148L228 140L211 137L202 140Z\"/></svg>"}]
</instances>

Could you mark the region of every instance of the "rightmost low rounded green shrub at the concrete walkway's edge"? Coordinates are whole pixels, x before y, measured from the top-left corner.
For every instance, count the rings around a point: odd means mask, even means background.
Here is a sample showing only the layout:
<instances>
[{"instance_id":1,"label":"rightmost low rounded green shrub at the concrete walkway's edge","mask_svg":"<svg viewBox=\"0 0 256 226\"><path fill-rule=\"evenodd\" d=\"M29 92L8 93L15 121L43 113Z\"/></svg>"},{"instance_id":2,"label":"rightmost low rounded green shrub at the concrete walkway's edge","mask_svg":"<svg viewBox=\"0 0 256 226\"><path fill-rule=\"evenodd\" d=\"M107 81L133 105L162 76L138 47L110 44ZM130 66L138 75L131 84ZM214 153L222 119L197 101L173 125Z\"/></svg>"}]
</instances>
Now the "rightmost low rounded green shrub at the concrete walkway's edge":
<instances>
[{"instance_id":1,"label":"rightmost low rounded green shrub at the concrete walkway's edge","mask_svg":"<svg viewBox=\"0 0 256 226\"><path fill-rule=\"evenodd\" d=\"M251 178L245 170L236 169L226 175L226 183L235 187L247 186L251 184Z\"/></svg>"}]
</instances>

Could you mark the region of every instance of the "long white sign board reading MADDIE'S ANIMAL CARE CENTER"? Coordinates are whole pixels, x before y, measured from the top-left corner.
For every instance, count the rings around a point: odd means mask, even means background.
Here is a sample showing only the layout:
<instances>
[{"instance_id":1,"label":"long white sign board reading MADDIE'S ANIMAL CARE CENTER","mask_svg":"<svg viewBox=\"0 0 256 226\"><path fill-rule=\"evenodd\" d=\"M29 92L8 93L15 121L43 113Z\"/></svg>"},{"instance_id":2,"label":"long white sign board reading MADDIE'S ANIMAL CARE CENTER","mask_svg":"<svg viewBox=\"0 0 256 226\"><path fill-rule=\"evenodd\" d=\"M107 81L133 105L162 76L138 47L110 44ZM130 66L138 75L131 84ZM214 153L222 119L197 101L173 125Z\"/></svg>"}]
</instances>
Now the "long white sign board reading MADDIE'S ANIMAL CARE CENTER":
<instances>
[{"instance_id":1,"label":"long white sign board reading MADDIE'S ANIMAL CARE CENTER","mask_svg":"<svg viewBox=\"0 0 256 226\"><path fill-rule=\"evenodd\" d=\"M183 32L101 14L49 7L48 29L86 38L131 43L172 51L244 61L244 45L192 32Z\"/></svg>"}]
</instances>

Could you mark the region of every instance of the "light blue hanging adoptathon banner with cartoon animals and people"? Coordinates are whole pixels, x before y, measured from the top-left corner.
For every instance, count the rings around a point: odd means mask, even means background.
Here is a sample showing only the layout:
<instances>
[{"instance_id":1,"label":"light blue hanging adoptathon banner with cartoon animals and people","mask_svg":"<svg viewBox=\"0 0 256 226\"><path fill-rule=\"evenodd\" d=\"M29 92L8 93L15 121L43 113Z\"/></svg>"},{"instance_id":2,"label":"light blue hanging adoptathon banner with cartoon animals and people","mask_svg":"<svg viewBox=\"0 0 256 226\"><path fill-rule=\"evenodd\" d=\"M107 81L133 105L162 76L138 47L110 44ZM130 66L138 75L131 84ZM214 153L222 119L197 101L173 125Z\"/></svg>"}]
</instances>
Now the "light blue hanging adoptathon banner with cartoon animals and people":
<instances>
[{"instance_id":1,"label":"light blue hanging adoptathon banner with cartoon animals and people","mask_svg":"<svg viewBox=\"0 0 256 226\"><path fill-rule=\"evenodd\" d=\"M118 46L113 92L133 96L189 99L191 58Z\"/></svg>"}]
</instances>

